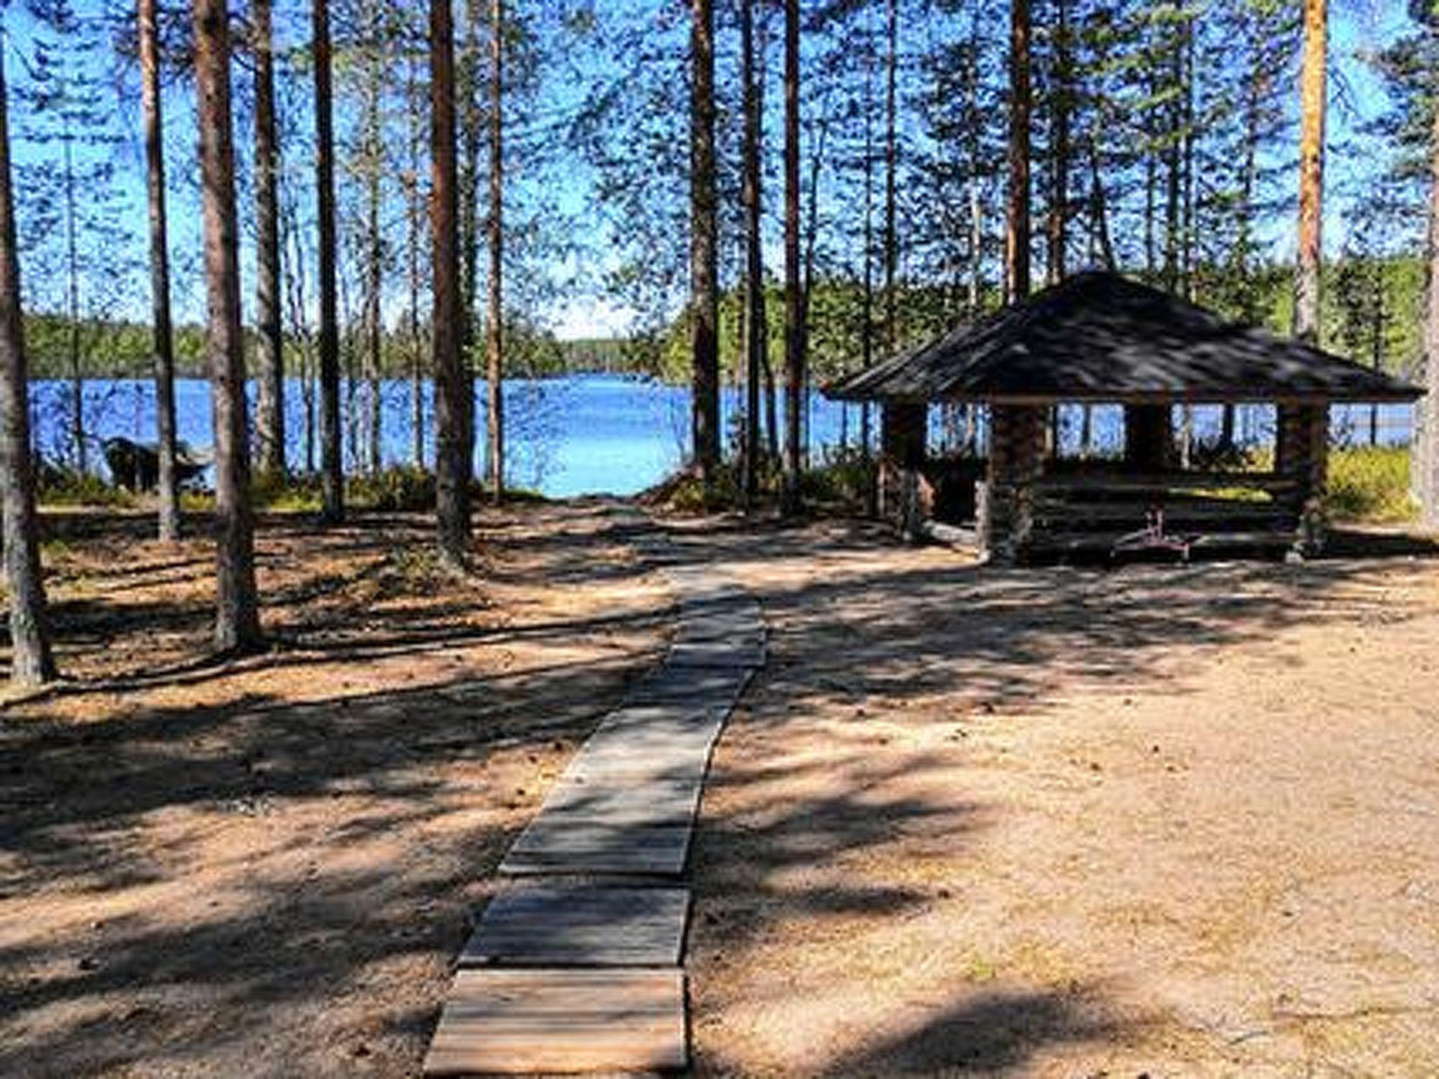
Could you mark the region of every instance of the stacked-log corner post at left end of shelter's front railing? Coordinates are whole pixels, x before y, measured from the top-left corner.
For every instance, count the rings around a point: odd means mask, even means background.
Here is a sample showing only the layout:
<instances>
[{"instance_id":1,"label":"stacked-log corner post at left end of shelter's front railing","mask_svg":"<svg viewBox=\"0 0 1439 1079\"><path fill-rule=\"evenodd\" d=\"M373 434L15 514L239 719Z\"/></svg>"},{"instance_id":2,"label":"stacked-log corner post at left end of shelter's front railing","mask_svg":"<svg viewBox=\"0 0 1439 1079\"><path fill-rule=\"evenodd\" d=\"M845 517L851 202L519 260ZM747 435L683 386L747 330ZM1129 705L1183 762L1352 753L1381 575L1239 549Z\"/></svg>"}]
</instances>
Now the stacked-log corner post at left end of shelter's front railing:
<instances>
[{"instance_id":1,"label":"stacked-log corner post at left end of shelter's front railing","mask_svg":"<svg viewBox=\"0 0 1439 1079\"><path fill-rule=\"evenodd\" d=\"M1025 555L1033 531L1030 485L1045 465L1048 410L996 404L990 409L990 463L979 498L980 547L997 565Z\"/></svg>"}]
</instances>

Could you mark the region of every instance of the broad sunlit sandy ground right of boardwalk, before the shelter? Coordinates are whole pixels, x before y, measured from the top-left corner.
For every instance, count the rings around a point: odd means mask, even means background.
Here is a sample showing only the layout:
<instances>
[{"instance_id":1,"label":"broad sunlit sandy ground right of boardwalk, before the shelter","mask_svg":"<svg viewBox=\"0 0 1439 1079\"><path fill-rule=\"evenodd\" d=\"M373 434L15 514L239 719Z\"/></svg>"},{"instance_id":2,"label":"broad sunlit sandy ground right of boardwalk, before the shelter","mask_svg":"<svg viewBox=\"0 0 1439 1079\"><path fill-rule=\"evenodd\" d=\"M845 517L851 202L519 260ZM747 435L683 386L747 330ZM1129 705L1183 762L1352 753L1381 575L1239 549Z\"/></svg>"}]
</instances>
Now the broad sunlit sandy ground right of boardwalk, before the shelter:
<instances>
[{"instance_id":1,"label":"broad sunlit sandy ground right of boardwalk, before the shelter","mask_svg":"<svg viewBox=\"0 0 1439 1079\"><path fill-rule=\"evenodd\" d=\"M688 542L773 627L704 803L699 1073L1439 1075L1439 561Z\"/></svg>"}]
</instances>

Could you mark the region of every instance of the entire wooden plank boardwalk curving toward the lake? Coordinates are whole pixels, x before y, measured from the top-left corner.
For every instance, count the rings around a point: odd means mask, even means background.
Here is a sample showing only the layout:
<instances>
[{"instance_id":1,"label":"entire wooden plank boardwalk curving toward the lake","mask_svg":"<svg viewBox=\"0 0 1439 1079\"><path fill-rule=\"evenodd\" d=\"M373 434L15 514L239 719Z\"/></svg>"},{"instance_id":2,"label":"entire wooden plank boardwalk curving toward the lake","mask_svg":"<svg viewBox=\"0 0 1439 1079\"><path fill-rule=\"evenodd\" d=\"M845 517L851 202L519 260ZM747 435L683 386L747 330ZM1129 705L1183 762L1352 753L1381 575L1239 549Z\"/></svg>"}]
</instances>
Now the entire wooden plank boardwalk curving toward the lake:
<instances>
[{"instance_id":1,"label":"entire wooden plank boardwalk curving toward the lake","mask_svg":"<svg viewBox=\"0 0 1439 1079\"><path fill-rule=\"evenodd\" d=\"M709 754L764 666L760 604L619 514L676 597L665 663L555 781L501 862L426 1075L669 1072L689 1063L684 945Z\"/></svg>"}]
</instances>

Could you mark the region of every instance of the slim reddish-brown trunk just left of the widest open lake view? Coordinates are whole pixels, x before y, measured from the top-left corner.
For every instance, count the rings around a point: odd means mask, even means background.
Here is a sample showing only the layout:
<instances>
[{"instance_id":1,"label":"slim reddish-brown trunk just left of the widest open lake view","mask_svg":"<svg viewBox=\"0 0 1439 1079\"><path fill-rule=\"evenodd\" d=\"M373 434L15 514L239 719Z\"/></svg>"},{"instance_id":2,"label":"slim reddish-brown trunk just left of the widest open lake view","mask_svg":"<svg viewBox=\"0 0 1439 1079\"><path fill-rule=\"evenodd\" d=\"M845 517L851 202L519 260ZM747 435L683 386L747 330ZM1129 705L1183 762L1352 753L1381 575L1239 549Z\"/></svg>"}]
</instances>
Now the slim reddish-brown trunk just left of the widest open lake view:
<instances>
[{"instance_id":1,"label":"slim reddish-brown trunk just left of the widest open lake view","mask_svg":"<svg viewBox=\"0 0 1439 1079\"><path fill-rule=\"evenodd\" d=\"M505 496L505 6L489 4L489 496Z\"/></svg>"}]
</instances>

